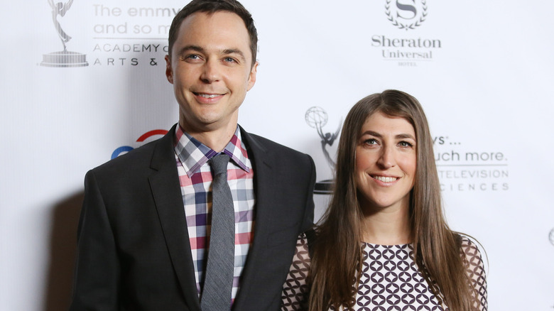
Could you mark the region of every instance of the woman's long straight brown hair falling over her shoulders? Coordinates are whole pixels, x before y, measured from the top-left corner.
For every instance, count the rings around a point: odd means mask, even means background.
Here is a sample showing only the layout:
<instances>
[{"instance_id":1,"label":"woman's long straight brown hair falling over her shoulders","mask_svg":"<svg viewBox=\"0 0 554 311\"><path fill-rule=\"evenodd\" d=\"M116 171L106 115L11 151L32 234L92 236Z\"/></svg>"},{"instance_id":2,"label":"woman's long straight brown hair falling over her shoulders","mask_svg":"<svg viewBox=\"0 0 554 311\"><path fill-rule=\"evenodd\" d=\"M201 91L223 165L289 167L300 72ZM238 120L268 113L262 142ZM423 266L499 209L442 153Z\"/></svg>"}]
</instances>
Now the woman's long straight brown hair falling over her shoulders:
<instances>
[{"instance_id":1,"label":"woman's long straight brown hair falling over her shoulders","mask_svg":"<svg viewBox=\"0 0 554 311\"><path fill-rule=\"evenodd\" d=\"M354 179L356 146L366 119L375 112L408 120L415 130L417 165L411 190L410 223L413 256L433 294L452 311L473 310L474 298L461 256L460 235L445 222L433 138L417 99L386 90L360 100L342 126L335 167L335 189L329 207L316 227L312 250L309 310L331 305L352 308L354 288L362 266L362 211ZM474 297L477 297L475 295Z\"/></svg>"}]
</instances>

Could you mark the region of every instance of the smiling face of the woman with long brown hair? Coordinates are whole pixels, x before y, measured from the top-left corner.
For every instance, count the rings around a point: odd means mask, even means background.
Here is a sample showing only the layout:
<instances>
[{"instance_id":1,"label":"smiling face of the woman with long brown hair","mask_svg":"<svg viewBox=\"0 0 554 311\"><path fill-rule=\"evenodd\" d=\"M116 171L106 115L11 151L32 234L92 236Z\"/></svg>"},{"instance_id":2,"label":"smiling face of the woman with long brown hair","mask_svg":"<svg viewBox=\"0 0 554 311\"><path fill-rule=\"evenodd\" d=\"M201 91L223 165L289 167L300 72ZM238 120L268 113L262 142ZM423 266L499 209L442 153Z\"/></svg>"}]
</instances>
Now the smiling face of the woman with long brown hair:
<instances>
[{"instance_id":1,"label":"smiling face of the woman with long brown hair","mask_svg":"<svg viewBox=\"0 0 554 311\"><path fill-rule=\"evenodd\" d=\"M362 126L356 147L356 185L364 209L409 206L416 166L413 126L376 112Z\"/></svg>"}]
</instances>

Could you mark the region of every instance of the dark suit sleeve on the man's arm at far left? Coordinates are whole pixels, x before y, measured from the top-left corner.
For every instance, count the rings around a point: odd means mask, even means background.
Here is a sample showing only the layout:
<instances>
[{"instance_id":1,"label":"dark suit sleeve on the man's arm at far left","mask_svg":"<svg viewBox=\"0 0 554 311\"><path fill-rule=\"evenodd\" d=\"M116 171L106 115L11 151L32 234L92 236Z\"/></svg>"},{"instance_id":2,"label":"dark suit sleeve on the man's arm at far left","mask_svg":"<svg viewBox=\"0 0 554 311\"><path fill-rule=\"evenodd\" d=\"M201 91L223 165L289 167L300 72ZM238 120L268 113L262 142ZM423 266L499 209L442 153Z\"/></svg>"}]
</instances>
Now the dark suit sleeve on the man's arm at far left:
<instances>
[{"instance_id":1,"label":"dark suit sleeve on the man's arm at far left","mask_svg":"<svg viewBox=\"0 0 554 311\"><path fill-rule=\"evenodd\" d=\"M114 232L93 171L77 229L77 259L70 311L118 310L119 261Z\"/></svg>"}]
</instances>

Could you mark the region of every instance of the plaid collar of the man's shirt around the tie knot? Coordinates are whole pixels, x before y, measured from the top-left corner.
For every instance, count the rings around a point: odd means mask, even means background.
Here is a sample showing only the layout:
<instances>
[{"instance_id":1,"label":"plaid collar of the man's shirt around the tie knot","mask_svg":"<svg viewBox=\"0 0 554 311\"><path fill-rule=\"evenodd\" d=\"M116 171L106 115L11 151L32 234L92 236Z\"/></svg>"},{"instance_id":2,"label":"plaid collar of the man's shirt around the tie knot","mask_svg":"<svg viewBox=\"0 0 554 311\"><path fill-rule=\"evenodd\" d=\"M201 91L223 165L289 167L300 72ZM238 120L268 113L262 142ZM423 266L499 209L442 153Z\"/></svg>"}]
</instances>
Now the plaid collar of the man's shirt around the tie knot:
<instances>
[{"instance_id":1,"label":"plaid collar of the man's shirt around the tie knot","mask_svg":"<svg viewBox=\"0 0 554 311\"><path fill-rule=\"evenodd\" d=\"M183 131L180 126L175 127L175 153L178 155L181 164L183 164L183 168L185 168L185 172L187 172L190 178L200 171L202 165L205 165L208 160L218 153L205 144L200 143L200 141L197 141L196 138ZM237 126L234 135L221 153L229 155L229 158L231 158L239 168L248 173L250 172L251 168L246 166L246 163L249 163L248 154L246 153L246 146L244 146L241 140L239 126Z\"/></svg>"}]
</instances>

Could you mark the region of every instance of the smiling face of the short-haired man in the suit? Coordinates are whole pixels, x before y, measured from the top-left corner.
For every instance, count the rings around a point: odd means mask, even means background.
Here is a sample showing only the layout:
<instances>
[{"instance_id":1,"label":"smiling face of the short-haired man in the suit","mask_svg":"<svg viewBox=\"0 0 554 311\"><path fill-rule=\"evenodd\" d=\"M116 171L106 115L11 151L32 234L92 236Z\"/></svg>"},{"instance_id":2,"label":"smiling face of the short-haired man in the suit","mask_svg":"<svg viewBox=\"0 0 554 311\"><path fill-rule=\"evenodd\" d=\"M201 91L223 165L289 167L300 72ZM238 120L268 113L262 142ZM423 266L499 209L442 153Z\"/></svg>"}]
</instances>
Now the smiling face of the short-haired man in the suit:
<instances>
[{"instance_id":1,"label":"smiling face of the short-haired man in the suit","mask_svg":"<svg viewBox=\"0 0 554 311\"><path fill-rule=\"evenodd\" d=\"M165 57L165 75L179 103L180 126L190 133L237 126L239 107L256 82L250 38L235 13L192 13Z\"/></svg>"}]
</instances>

